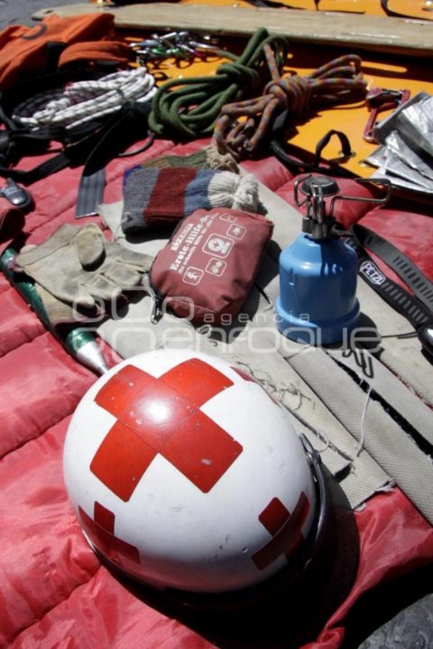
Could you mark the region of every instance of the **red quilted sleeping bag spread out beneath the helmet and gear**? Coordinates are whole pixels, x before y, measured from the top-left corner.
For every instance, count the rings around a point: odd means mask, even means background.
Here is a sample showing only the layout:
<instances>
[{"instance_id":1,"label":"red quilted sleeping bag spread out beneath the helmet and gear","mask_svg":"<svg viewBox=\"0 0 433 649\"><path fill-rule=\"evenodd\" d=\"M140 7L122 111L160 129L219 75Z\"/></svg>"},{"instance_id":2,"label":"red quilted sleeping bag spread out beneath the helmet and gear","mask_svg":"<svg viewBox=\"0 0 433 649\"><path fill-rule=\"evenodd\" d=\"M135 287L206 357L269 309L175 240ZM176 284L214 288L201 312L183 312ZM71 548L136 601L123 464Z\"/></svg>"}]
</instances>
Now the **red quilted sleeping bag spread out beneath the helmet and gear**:
<instances>
[{"instance_id":1,"label":"red quilted sleeping bag spread out beneath the helmet and gear","mask_svg":"<svg viewBox=\"0 0 433 649\"><path fill-rule=\"evenodd\" d=\"M176 152L191 153L204 144L176 147ZM158 141L146 154L111 163L105 201L121 197L126 167L173 148L169 141ZM35 164L34 158L28 161L29 167ZM274 158L246 167L292 201L290 173ZM81 169L65 169L32 186L36 209L26 217L29 243L43 241L62 223L75 222L80 175ZM362 203L352 204L351 210L345 212L344 225L349 225L347 219L362 219L404 250L415 249L415 262L433 279L433 241L417 225L422 216L408 219L388 209L366 215L369 206ZM176 619L161 600L150 606L137 585L120 581L100 565L82 537L65 495L62 445L78 400L97 377L44 330L3 276L0 354L0 646L199 649L218 644L218 618L214 626L206 626L194 615ZM361 541L357 580L310 647L340 646L351 609L363 593L433 559L433 530L399 489L371 498L355 517ZM223 646L246 645L233 630ZM274 638L269 646L287 642Z\"/></svg>"}]
</instances>

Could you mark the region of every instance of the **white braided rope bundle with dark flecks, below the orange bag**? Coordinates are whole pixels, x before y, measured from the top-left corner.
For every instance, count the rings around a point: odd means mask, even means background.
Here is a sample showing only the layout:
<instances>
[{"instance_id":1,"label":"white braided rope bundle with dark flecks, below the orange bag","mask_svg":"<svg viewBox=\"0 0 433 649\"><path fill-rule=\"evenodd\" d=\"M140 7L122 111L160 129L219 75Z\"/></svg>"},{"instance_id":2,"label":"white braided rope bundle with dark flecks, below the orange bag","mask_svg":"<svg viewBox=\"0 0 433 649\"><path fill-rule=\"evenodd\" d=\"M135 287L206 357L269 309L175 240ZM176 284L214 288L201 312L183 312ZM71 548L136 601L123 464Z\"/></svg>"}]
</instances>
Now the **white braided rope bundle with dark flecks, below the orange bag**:
<instances>
[{"instance_id":1,"label":"white braided rope bundle with dark flecks, below the orange bag","mask_svg":"<svg viewBox=\"0 0 433 649\"><path fill-rule=\"evenodd\" d=\"M115 112L127 101L148 101L155 92L154 77L144 67L137 67L97 81L78 81L63 90L42 92L19 104L12 117L31 129L45 125L72 129Z\"/></svg>"}]
</instances>

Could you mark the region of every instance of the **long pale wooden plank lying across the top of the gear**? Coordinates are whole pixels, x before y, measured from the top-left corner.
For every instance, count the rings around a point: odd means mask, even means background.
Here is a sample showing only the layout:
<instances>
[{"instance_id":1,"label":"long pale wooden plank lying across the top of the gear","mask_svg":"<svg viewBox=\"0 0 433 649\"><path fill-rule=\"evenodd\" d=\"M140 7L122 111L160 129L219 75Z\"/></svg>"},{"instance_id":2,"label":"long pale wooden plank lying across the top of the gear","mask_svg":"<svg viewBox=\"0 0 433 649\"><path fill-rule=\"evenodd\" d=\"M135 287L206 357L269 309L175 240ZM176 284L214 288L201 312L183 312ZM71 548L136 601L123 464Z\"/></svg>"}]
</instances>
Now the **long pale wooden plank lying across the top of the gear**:
<instances>
[{"instance_id":1,"label":"long pale wooden plank lying across the top of the gear","mask_svg":"<svg viewBox=\"0 0 433 649\"><path fill-rule=\"evenodd\" d=\"M65 5L36 12L76 16L109 12L120 28L189 29L226 36L250 36L258 27L288 36L292 42L349 46L406 56L433 56L433 24L430 21L382 16L351 16L337 12L249 8L245 6L181 5L149 3L107 7L92 3Z\"/></svg>"}]
</instances>

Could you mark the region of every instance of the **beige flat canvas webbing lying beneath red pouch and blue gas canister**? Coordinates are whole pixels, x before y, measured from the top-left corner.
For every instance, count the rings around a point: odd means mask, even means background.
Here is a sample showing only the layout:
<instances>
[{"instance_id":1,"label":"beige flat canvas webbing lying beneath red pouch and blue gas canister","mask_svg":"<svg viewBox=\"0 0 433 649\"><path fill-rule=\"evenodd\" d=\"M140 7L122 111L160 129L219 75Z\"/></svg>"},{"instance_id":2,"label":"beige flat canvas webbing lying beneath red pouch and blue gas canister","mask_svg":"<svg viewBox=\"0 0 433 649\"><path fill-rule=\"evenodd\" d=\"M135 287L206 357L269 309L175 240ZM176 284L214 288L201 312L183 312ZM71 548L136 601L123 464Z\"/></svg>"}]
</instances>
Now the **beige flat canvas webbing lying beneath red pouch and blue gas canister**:
<instances>
[{"instance_id":1,"label":"beige flat canvas webbing lying beneath red pouch and blue gas canister","mask_svg":"<svg viewBox=\"0 0 433 649\"><path fill-rule=\"evenodd\" d=\"M407 321L361 279L362 312L382 336L392 336L383 337L376 349L367 349L368 343L353 350L347 345L317 349L281 336L274 315L278 257L298 236L301 214L262 184L259 193L274 221L274 238L233 322L194 328L165 313L152 324L153 299L143 287L116 318L99 326L100 336L124 358L179 347L224 356L287 408L296 431L320 452L354 508L397 484L433 523L433 463L424 449L424 443L433 444L433 368L421 355L419 341L397 337L408 331ZM155 254L165 239L126 241L119 228L121 209L121 204L100 208L115 237L136 251Z\"/></svg>"}]
</instances>

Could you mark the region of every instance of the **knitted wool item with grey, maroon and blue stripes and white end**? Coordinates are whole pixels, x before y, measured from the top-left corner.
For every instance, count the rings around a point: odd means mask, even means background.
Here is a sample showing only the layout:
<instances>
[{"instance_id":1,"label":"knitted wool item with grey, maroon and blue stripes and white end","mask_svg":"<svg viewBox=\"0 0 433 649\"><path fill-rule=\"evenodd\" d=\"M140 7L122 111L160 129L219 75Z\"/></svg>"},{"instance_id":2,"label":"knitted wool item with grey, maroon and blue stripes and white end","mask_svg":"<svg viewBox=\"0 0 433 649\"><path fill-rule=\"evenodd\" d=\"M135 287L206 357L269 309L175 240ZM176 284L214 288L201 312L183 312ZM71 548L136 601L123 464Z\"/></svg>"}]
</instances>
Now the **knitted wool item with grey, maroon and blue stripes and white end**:
<instances>
[{"instance_id":1,"label":"knitted wool item with grey, maroon and blue stripes and white end","mask_svg":"<svg viewBox=\"0 0 433 649\"><path fill-rule=\"evenodd\" d=\"M258 186L248 174L197 167L132 167L124 175L122 228L172 225L203 208L234 207L257 212Z\"/></svg>"}]
</instances>

